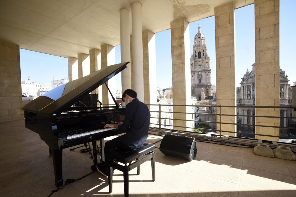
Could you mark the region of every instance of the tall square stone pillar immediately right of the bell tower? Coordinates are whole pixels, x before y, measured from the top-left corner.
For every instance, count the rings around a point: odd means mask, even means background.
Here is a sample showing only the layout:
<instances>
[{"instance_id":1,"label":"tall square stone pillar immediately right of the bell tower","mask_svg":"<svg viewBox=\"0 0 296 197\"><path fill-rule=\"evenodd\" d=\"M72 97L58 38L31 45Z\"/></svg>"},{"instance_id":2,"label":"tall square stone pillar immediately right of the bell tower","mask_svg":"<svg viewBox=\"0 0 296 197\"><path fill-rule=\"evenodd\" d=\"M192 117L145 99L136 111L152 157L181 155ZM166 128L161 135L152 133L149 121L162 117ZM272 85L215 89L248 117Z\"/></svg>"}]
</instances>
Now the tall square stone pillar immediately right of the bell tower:
<instances>
[{"instance_id":1,"label":"tall square stone pillar immediately right of the bell tower","mask_svg":"<svg viewBox=\"0 0 296 197\"><path fill-rule=\"evenodd\" d=\"M217 105L236 105L234 67L233 2L215 7ZM247 86L245 87L246 93ZM245 95L247 97L247 95ZM219 109L217 113L220 113ZM235 108L222 108L222 114L236 115ZM217 122L220 121L217 116ZM222 116L224 123L236 123L236 116ZM219 128L219 125L217 125ZM235 125L222 124L224 131L236 131ZM219 132L217 132L219 134ZM234 133L222 133L235 136Z\"/></svg>"}]
</instances>

